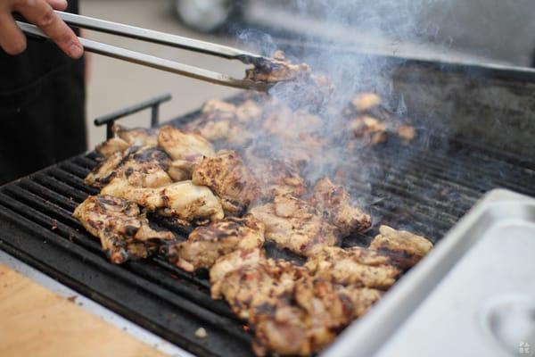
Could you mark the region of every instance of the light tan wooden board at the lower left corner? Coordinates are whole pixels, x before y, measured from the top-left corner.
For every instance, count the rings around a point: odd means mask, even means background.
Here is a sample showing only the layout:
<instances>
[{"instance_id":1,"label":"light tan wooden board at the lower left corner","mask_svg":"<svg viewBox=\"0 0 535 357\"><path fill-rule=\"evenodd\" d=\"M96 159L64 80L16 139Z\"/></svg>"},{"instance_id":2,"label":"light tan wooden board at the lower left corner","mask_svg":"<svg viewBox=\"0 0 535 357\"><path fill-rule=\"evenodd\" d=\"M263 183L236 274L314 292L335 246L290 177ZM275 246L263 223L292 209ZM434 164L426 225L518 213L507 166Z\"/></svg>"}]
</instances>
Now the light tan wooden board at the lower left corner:
<instances>
[{"instance_id":1,"label":"light tan wooden board at the lower left corner","mask_svg":"<svg viewBox=\"0 0 535 357\"><path fill-rule=\"evenodd\" d=\"M152 346L2 264L0 355L164 356Z\"/></svg>"}]
</instances>

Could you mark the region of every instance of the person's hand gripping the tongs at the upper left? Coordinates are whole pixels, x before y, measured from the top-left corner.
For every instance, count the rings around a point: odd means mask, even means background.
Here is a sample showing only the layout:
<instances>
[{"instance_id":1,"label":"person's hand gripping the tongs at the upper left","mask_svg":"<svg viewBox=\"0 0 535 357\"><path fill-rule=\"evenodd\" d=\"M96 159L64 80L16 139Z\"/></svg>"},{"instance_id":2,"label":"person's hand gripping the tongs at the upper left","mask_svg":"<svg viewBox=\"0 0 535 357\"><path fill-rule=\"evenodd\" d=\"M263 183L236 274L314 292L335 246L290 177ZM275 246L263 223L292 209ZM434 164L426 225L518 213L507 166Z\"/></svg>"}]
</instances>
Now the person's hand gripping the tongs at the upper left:
<instances>
[{"instance_id":1,"label":"person's hand gripping the tongs at the upper left","mask_svg":"<svg viewBox=\"0 0 535 357\"><path fill-rule=\"evenodd\" d=\"M72 29L53 10L67 8L65 0L0 0L0 46L8 54L21 54L26 49L26 37L15 23L12 12L37 25L71 58L79 58L84 48Z\"/></svg>"}]
</instances>

